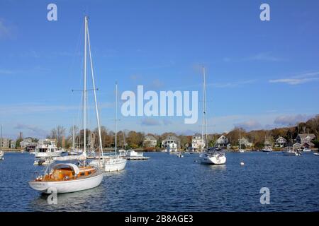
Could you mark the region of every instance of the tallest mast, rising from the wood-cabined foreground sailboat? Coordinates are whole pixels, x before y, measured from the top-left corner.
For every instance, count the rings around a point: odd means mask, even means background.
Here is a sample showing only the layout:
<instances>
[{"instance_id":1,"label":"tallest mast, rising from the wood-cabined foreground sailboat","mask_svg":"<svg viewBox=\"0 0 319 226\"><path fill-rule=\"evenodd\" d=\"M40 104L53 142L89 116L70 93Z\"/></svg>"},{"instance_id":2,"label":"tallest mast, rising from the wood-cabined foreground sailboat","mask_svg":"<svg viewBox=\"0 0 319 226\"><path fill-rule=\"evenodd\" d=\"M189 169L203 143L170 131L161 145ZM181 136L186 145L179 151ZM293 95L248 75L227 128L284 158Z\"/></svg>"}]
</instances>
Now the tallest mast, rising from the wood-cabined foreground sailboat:
<instances>
[{"instance_id":1,"label":"tallest mast, rising from the wood-cabined foreground sailboat","mask_svg":"<svg viewBox=\"0 0 319 226\"><path fill-rule=\"evenodd\" d=\"M84 17L84 88L83 88L83 117L84 117L84 141L83 152L86 154L86 34L87 34L87 16Z\"/></svg>"}]
</instances>

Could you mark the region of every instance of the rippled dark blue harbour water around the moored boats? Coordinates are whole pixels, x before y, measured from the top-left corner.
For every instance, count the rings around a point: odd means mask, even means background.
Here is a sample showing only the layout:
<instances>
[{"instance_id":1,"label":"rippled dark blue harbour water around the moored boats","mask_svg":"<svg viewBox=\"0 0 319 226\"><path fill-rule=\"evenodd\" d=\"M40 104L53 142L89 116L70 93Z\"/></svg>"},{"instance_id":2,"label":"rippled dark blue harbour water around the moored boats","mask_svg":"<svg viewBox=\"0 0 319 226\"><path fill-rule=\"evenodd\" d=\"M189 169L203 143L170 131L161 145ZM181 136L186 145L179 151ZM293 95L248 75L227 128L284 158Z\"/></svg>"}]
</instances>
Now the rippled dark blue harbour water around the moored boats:
<instances>
[{"instance_id":1,"label":"rippled dark blue harbour water around the moored boats","mask_svg":"<svg viewBox=\"0 0 319 226\"><path fill-rule=\"evenodd\" d=\"M0 161L1 211L318 211L319 157L282 153L226 153L223 166L166 153L145 153L123 172L107 173L101 186L58 195L57 205L33 191L28 179L43 169L33 155L6 153ZM240 161L245 166L240 166ZM259 202L262 187L270 204Z\"/></svg>"}]
</instances>

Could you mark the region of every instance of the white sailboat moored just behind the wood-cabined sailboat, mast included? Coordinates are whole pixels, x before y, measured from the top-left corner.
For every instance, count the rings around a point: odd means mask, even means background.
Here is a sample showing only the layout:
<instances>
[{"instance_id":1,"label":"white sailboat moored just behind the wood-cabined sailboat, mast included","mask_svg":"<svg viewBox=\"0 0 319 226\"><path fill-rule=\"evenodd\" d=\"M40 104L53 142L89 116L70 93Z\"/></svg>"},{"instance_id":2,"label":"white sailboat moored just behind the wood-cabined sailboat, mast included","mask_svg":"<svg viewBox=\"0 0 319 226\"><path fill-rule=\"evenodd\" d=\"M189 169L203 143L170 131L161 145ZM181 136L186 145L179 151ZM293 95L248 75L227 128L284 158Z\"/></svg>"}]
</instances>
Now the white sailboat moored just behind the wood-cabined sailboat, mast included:
<instances>
[{"instance_id":1,"label":"white sailboat moored just behind the wood-cabined sailboat, mast included","mask_svg":"<svg viewBox=\"0 0 319 226\"><path fill-rule=\"evenodd\" d=\"M92 160L90 165L103 167L104 172L121 171L125 168L127 160L117 152L117 127L118 113L118 83L116 83L116 107L115 107L115 155L102 156L102 161ZM103 153L103 151L102 151Z\"/></svg>"}]
</instances>

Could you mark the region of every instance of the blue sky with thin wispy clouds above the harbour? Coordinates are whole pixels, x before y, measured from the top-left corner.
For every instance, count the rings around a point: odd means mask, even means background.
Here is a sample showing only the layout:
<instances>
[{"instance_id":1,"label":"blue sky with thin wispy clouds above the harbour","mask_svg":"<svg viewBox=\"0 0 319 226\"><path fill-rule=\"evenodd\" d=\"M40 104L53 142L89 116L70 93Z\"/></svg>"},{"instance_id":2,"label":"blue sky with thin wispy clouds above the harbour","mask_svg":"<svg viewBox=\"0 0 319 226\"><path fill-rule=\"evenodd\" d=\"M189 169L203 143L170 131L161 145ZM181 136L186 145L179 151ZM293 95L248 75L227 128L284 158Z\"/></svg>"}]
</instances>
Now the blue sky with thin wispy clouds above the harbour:
<instances>
[{"instance_id":1,"label":"blue sky with thin wispy clouds above the harbour","mask_svg":"<svg viewBox=\"0 0 319 226\"><path fill-rule=\"evenodd\" d=\"M47 4L57 4L57 21ZM259 6L270 6L270 21ZM318 1L0 2L0 124L44 137L81 122L83 20L88 14L101 121L119 93L198 90L207 70L208 131L263 129L319 113ZM91 85L91 83L89 83ZM92 105L92 95L89 101ZM200 100L201 103L201 100ZM121 104L121 103L120 103ZM198 115L201 116L201 105ZM184 117L122 117L119 129L191 134ZM96 126L89 111L89 126Z\"/></svg>"}]
</instances>

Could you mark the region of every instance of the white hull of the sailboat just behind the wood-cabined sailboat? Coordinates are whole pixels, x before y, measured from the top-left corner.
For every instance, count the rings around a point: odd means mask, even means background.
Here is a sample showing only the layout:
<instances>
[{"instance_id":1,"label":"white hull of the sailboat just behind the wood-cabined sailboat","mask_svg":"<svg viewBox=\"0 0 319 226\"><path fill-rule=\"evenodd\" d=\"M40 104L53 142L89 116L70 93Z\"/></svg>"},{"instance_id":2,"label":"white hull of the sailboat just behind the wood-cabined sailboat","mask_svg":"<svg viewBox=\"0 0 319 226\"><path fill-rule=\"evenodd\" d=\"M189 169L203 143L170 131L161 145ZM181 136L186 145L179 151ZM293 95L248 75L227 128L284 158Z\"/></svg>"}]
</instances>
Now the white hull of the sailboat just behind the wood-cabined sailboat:
<instances>
[{"instance_id":1,"label":"white hull of the sailboat just behind the wood-cabined sailboat","mask_svg":"<svg viewBox=\"0 0 319 226\"><path fill-rule=\"evenodd\" d=\"M101 163L99 160L93 160L90 162L90 165L97 166L97 167L103 167L104 172L116 172L121 171L125 168L127 160L122 157L104 157L104 165L103 161L101 160Z\"/></svg>"}]
</instances>

